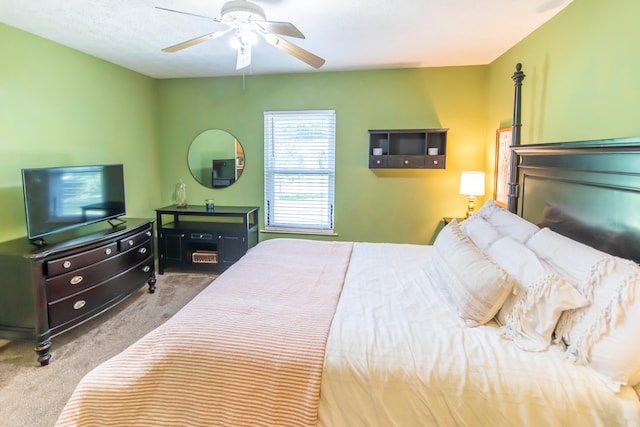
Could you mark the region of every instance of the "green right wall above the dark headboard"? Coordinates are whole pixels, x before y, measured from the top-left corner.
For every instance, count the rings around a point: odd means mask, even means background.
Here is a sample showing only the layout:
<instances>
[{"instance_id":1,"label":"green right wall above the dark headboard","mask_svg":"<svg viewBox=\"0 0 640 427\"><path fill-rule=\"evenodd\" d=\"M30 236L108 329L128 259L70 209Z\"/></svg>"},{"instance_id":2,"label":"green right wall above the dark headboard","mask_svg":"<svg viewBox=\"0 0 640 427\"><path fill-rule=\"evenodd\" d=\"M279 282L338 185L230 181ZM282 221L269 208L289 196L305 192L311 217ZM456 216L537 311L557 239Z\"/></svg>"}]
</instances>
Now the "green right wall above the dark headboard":
<instances>
[{"instance_id":1,"label":"green right wall above the dark headboard","mask_svg":"<svg viewBox=\"0 0 640 427\"><path fill-rule=\"evenodd\" d=\"M511 124L520 62L523 144L640 135L638 16L637 0L574 0L491 64L490 124Z\"/></svg>"}]
</instances>

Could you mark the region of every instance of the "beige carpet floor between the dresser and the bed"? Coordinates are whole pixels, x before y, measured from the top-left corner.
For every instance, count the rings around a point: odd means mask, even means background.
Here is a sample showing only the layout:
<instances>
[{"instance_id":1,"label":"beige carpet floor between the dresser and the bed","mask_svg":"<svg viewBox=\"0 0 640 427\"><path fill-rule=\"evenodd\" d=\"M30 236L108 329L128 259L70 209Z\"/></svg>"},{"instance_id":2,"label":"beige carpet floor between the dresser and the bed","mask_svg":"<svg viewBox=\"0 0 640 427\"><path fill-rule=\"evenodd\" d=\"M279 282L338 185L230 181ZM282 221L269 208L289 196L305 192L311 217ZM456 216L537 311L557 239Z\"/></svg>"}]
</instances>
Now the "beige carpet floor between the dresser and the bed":
<instances>
[{"instance_id":1,"label":"beige carpet floor between the dresser and the bed","mask_svg":"<svg viewBox=\"0 0 640 427\"><path fill-rule=\"evenodd\" d=\"M0 425L53 426L87 372L162 324L214 278L158 275L154 294L145 285L108 312L53 338L46 367L37 363L33 342L0 347Z\"/></svg>"}]
</instances>

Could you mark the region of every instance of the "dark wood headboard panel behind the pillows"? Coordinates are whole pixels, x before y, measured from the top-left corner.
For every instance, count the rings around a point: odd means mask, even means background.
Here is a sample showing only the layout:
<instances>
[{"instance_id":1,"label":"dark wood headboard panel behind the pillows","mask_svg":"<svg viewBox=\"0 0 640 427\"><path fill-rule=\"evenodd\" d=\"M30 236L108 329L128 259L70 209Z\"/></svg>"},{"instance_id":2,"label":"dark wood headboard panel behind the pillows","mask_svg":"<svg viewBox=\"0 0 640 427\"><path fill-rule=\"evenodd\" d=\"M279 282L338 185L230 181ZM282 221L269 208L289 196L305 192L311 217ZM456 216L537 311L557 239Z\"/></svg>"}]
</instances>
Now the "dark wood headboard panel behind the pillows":
<instances>
[{"instance_id":1,"label":"dark wood headboard panel behind the pillows","mask_svg":"<svg viewBox=\"0 0 640 427\"><path fill-rule=\"evenodd\" d=\"M640 138L512 149L518 215L640 262Z\"/></svg>"}]
</instances>

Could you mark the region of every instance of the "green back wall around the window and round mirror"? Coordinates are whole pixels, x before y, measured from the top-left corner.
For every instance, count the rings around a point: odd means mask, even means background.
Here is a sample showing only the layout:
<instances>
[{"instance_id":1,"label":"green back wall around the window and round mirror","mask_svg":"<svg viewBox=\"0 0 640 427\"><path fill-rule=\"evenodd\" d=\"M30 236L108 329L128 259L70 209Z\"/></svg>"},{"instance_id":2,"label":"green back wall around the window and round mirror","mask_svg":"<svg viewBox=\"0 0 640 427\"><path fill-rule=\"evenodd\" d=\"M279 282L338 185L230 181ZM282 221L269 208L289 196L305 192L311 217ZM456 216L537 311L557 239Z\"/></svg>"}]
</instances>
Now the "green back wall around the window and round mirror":
<instances>
[{"instance_id":1,"label":"green back wall around the window and round mirror","mask_svg":"<svg viewBox=\"0 0 640 427\"><path fill-rule=\"evenodd\" d=\"M337 239L427 243L443 216L461 215L463 169L484 168L487 67L324 72L175 79L159 83L160 186L175 183L190 203L263 206L263 112L336 110ZM446 170L372 171L368 130L449 128ZM226 189L207 189L189 173L190 142L205 129L229 131L245 150L245 170ZM262 219L262 218L261 218ZM273 237L263 234L261 238ZM336 238L336 237L332 237Z\"/></svg>"}]
</instances>

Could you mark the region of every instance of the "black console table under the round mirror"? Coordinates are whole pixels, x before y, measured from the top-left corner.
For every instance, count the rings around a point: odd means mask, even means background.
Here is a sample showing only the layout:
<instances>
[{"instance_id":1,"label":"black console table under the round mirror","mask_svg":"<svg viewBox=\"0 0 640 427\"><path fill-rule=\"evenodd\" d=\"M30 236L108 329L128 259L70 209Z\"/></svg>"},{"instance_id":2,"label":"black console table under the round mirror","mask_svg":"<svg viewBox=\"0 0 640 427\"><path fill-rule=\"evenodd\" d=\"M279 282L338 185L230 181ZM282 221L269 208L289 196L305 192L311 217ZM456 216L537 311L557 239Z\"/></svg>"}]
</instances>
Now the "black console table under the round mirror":
<instances>
[{"instance_id":1,"label":"black console table under the round mirror","mask_svg":"<svg viewBox=\"0 0 640 427\"><path fill-rule=\"evenodd\" d=\"M156 209L158 273L166 268L219 271L258 243L258 210L247 206L175 205Z\"/></svg>"}]
</instances>

